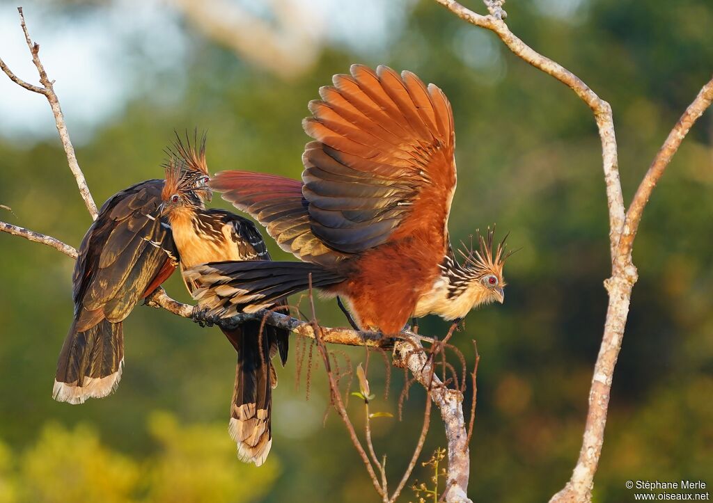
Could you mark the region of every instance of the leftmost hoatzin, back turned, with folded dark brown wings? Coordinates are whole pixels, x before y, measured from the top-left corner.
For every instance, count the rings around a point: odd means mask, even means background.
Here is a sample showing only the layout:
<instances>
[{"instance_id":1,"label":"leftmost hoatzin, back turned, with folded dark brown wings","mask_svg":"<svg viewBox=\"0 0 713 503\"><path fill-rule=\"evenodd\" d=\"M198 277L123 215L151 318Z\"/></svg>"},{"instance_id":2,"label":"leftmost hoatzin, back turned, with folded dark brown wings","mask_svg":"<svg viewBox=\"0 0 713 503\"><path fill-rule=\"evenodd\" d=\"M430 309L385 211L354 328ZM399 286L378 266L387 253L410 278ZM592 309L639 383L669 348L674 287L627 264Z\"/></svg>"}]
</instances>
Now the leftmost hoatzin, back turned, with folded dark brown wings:
<instances>
[{"instance_id":1,"label":"leftmost hoatzin, back turned, with folded dark brown wings","mask_svg":"<svg viewBox=\"0 0 713 503\"><path fill-rule=\"evenodd\" d=\"M178 140L185 178L200 204L210 199L205 160ZM116 389L124 358L123 320L175 269L170 230L159 218L163 180L146 180L110 197L79 247L74 319L57 363L53 398L83 403Z\"/></svg>"}]
</instances>

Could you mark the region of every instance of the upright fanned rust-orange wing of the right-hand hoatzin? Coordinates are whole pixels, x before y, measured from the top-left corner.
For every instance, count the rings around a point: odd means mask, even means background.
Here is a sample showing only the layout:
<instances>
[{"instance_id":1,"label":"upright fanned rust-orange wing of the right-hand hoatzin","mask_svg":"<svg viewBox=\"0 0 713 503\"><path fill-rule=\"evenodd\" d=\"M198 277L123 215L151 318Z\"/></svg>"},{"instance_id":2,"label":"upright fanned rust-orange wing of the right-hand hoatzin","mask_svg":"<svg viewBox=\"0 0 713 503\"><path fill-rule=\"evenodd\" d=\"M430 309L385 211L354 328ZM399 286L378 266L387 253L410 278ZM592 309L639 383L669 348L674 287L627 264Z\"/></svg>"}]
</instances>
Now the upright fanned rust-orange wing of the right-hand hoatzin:
<instances>
[{"instance_id":1,"label":"upright fanned rust-orange wing of the right-hand hoatzin","mask_svg":"<svg viewBox=\"0 0 713 503\"><path fill-rule=\"evenodd\" d=\"M413 73L353 65L309 103L302 156L312 232L356 253L424 233L446 247L456 188L448 98Z\"/></svg>"}]
</instances>

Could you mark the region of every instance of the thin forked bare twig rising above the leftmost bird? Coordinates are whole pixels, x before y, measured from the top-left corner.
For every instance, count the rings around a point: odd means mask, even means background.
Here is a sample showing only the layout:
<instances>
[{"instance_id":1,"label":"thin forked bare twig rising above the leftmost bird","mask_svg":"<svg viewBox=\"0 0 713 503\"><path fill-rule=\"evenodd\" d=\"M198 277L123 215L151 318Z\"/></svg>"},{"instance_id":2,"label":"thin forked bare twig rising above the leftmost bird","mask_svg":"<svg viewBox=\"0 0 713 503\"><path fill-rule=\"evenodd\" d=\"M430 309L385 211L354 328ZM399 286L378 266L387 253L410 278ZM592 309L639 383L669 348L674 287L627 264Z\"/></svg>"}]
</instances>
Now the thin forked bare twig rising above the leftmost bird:
<instances>
[{"instance_id":1,"label":"thin forked bare twig rising above the leftmost bird","mask_svg":"<svg viewBox=\"0 0 713 503\"><path fill-rule=\"evenodd\" d=\"M87 186L87 182L84 179L84 174L82 170L79 168L79 164L77 162L77 157L74 153L74 147L72 146L72 142L69 140L69 133L67 132L67 126L64 123L64 115L62 114L62 108L59 105L59 100L57 98L56 93L54 92L54 86L53 83L54 81L50 81L49 78L47 77L47 73L44 69L44 66L42 65L42 61L40 60L39 52L40 52L40 46L38 43L33 43L29 32L27 31L27 26L25 24L25 16L22 13L22 7L18 7L17 11L20 13L20 26L22 26L22 31L25 34L25 41L27 42L27 47L30 50L30 53L32 54L32 62L37 68L37 71L40 75L40 83L42 84L43 87L38 87L36 85L31 85L29 83L26 83L25 81L21 80L19 77L17 77L14 73L10 71L10 69L6 66L6 64L0 60L0 68L2 68L2 71L17 85L21 85L23 88L27 90L31 90L34 93L40 93L42 95L45 95L51 108L52 108L52 113L54 115L54 122L55 125L57 126L57 131L59 133L59 138L62 140L62 146L64 147L64 152L67 156L67 162L69 164L69 169L72 171L72 174L74 175L74 179L77 182L77 187L79 188L79 194L81 195L82 199L84 199L84 204L86 204L86 207L89 211L89 214L91 214L91 217L93 220L96 220L96 216L98 214L98 211L96 209L96 204L94 204L94 199L91 196L91 192L89 192L89 187Z\"/></svg>"}]
</instances>

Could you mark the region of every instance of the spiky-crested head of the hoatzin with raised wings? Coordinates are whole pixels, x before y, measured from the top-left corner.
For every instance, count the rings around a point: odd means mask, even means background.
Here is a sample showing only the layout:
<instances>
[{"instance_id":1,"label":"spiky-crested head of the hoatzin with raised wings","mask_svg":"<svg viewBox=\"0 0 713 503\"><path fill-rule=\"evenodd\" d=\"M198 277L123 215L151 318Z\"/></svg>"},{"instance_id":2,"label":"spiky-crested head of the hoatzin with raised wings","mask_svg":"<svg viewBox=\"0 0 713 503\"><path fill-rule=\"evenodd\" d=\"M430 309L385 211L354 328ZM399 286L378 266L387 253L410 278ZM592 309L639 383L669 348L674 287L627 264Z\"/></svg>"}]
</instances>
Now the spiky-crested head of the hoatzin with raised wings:
<instances>
[{"instance_id":1,"label":"spiky-crested head of the hoatzin with raised wings","mask_svg":"<svg viewBox=\"0 0 713 503\"><path fill-rule=\"evenodd\" d=\"M495 227L488 227L486 237L478 234L478 249L473 247L472 240L470 247L463 244L463 247L458 249L458 253L465 260L462 266L465 272L463 276L467 278L467 290L473 298L473 307L492 302L503 304L505 301L506 281L503 266L513 251L506 251L507 234L493 249L494 237Z\"/></svg>"}]
</instances>

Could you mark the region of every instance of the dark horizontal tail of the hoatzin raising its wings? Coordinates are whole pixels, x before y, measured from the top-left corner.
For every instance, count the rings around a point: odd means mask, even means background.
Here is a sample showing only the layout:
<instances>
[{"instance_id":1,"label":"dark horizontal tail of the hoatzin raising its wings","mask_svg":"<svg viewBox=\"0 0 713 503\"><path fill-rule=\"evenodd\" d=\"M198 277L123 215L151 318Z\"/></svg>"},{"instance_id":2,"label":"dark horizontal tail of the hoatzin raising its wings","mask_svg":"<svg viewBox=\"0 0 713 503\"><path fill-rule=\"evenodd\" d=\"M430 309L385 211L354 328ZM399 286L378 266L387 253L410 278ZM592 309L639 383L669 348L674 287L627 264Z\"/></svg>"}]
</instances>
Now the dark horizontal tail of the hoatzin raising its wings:
<instances>
[{"instance_id":1,"label":"dark horizontal tail of the hoatzin raising its wings","mask_svg":"<svg viewBox=\"0 0 713 503\"><path fill-rule=\"evenodd\" d=\"M324 288L344 281L331 268L306 262L226 261L210 262L185 271L189 281L201 285L194 299L224 318L270 308L279 299L309 288Z\"/></svg>"}]
</instances>

